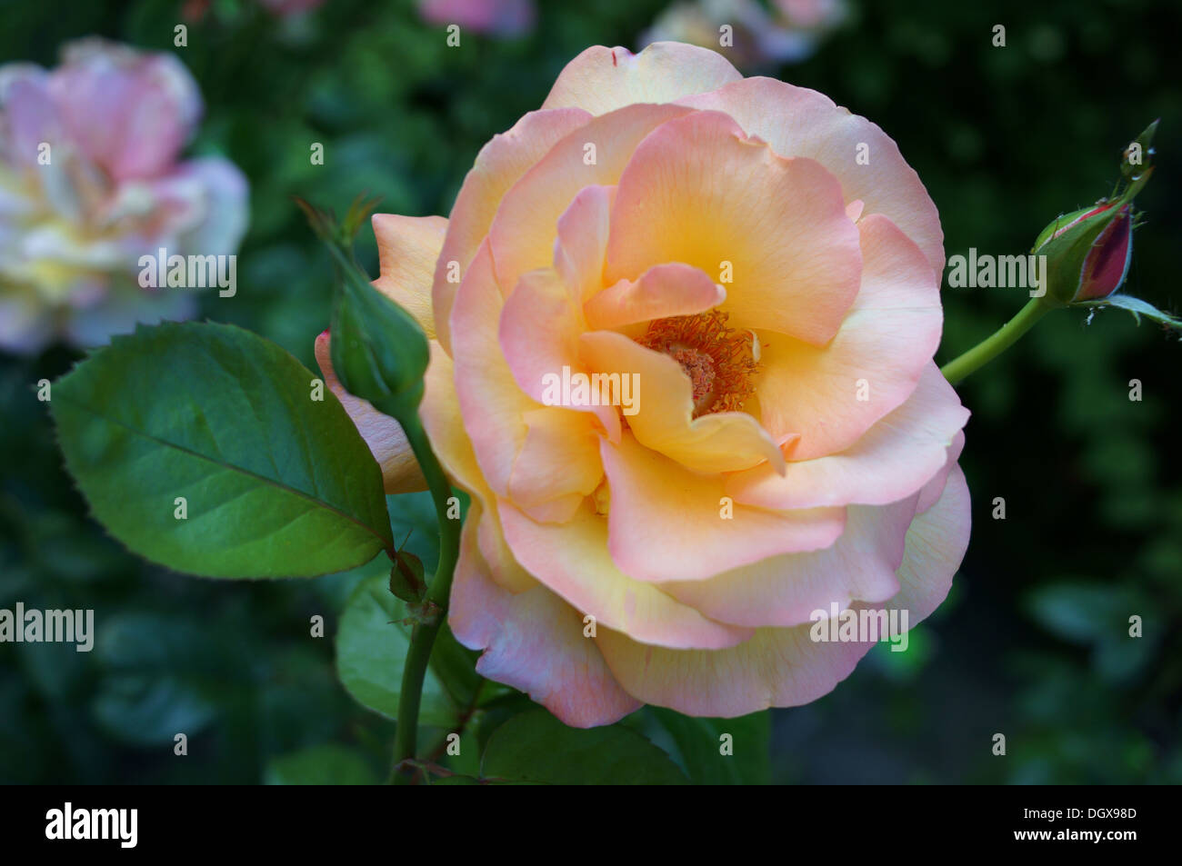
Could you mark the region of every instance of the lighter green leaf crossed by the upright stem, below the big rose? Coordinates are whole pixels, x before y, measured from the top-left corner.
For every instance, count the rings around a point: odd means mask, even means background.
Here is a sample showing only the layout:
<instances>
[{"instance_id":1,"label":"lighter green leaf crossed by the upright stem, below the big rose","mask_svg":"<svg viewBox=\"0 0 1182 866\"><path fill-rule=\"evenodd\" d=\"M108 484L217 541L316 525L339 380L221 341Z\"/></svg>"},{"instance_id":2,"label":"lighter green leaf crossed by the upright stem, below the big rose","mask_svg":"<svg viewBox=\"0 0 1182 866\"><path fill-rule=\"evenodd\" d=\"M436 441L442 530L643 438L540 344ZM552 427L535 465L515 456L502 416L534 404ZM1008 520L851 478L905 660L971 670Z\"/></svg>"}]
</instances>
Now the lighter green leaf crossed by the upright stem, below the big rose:
<instances>
[{"instance_id":1,"label":"lighter green leaf crossed by the upright stem, below the big rose","mask_svg":"<svg viewBox=\"0 0 1182 866\"><path fill-rule=\"evenodd\" d=\"M349 694L388 718L398 717L402 668L410 649L407 604L390 594L384 569L353 591L337 631L337 676ZM423 681L418 722L450 728L459 711L431 669Z\"/></svg>"}]
</instances>

